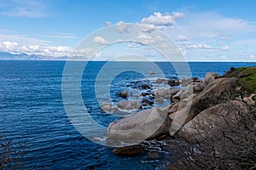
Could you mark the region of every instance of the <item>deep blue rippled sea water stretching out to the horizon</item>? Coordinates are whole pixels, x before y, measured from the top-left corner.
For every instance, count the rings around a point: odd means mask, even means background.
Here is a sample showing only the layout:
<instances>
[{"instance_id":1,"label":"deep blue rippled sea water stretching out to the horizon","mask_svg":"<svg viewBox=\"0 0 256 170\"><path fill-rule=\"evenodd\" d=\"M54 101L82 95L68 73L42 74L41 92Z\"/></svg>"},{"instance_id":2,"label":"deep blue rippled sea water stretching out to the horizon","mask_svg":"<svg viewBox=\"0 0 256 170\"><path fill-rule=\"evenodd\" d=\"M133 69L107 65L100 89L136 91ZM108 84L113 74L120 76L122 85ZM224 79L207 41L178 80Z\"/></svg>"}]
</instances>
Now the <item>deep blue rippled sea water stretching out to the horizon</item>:
<instances>
[{"instance_id":1,"label":"deep blue rippled sea water stretching out to the horizon","mask_svg":"<svg viewBox=\"0 0 256 170\"><path fill-rule=\"evenodd\" d=\"M73 61L76 62L76 61ZM81 64L81 62L77 62ZM65 61L0 60L0 134L11 139L14 147L25 146L21 162L26 168L39 169L155 169L166 158L147 154L121 157L112 148L84 138L70 123L61 97L61 80ZM100 110L95 94L96 77L106 62L90 62L84 69L81 94L93 118L107 127L116 120ZM115 62L115 69L127 65ZM150 83L136 71L151 71L148 63L133 62L110 84L113 102L117 93L139 83ZM170 63L157 62L166 77L176 76ZM191 62L193 77L204 77L207 71L224 74L230 67L252 66L241 62ZM110 71L114 72L114 71ZM157 75L155 75L157 77ZM108 75L106 75L108 78ZM104 81L104 80L103 80ZM104 96L102 97L104 98Z\"/></svg>"}]
</instances>

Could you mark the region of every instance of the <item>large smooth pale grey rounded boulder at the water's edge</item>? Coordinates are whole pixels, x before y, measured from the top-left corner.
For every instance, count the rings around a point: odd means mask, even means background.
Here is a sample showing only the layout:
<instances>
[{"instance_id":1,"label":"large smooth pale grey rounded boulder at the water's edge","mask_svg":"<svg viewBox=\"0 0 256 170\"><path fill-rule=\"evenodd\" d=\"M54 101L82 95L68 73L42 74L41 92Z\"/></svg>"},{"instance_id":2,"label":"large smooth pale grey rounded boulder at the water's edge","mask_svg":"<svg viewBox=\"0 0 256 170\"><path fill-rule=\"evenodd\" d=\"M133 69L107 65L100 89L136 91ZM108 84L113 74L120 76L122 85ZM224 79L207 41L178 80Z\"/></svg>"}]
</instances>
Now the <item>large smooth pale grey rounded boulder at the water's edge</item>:
<instances>
[{"instance_id":1,"label":"large smooth pale grey rounded boulder at the water's edge","mask_svg":"<svg viewBox=\"0 0 256 170\"><path fill-rule=\"evenodd\" d=\"M168 133L171 120L168 109L154 107L112 122L108 126L108 144L138 144L161 133Z\"/></svg>"}]
</instances>

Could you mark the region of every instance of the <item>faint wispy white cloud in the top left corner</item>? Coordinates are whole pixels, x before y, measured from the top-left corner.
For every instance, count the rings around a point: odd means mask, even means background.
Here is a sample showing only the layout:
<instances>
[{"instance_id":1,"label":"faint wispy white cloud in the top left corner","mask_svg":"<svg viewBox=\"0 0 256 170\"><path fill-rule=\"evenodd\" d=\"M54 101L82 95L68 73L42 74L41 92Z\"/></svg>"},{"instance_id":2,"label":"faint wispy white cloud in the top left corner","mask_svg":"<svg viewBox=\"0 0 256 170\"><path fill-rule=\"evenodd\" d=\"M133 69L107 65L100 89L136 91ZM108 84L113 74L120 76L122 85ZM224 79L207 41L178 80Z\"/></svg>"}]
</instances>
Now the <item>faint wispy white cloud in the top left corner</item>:
<instances>
[{"instance_id":1,"label":"faint wispy white cloud in the top left corner","mask_svg":"<svg viewBox=\"0 0 256 170\"><path fill-rule=\"evenodd\" d=\"M39 0L9 0L2 6L2 15L10 17L38 18L47 16L46 5Z\"/></svg>"}]
</instances>

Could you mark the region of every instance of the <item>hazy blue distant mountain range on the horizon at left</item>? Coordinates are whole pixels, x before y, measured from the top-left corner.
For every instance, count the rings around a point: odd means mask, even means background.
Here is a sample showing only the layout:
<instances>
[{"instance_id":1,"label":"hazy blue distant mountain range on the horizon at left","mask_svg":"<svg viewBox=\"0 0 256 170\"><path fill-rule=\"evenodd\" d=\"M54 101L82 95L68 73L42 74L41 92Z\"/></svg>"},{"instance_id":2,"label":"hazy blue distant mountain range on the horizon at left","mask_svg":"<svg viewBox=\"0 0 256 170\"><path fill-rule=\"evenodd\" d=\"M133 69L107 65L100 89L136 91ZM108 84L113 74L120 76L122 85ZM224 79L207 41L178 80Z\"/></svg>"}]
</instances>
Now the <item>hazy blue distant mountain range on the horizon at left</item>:
<instances>
[{"instance_id":1,"label":"hazy blue distant mountain range on the horizon at left","mask_svg":"<svg viewBox=\"0 0 256 170\"><path fill-rule=\"evenodd\" d=\"M70 59L67 56L61 57L51 57L51 56L44 56L39 54L10 54L10 53L3 53L0 52L0 60L67 60ZM84 60L83 57L72 57L73 60Z\"/></svg>"}]
</instances>

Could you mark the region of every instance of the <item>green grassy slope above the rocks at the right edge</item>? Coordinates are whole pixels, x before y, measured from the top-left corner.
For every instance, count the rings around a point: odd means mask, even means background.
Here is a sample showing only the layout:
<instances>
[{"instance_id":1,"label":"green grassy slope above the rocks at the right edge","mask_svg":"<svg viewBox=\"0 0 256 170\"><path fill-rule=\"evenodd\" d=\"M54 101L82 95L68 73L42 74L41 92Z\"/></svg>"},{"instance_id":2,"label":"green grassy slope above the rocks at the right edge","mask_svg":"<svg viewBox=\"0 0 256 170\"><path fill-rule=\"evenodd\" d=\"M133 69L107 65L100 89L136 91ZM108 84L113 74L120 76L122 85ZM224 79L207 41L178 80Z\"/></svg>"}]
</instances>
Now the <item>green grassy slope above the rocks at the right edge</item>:
<instances>
[{"instance_id":1,"label":"green grassy slope above the rocks at the right edge","mask_svg":"<svg viewBox=\"0 0 256 170\"><path fill-rule=\"evenodd\" d=\"M237 83L248 94L256 93L256 67L231 68L225 77L237 77Z\"/></svg>"}]
</instances>

